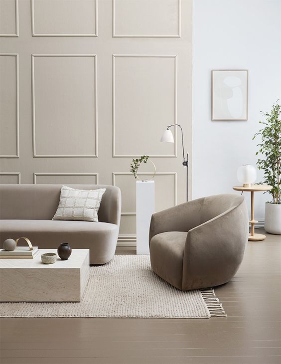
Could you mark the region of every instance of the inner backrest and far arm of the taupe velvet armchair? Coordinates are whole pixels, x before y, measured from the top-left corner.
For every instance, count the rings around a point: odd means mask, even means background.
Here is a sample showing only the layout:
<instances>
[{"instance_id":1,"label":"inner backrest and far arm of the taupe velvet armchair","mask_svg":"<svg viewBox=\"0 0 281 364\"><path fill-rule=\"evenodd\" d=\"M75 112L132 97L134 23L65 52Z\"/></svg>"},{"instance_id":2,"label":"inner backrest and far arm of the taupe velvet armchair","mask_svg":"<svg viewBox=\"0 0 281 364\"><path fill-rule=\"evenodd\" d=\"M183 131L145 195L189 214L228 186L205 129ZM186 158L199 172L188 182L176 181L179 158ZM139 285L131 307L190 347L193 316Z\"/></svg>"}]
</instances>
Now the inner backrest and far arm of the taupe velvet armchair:
<instances>
[{"instance_id":1,"label":"inner backrest and far arm of the taupe velvet armchair","mask_svg":"<svg viewBox=\"0 0 281 364\"><path fill-rule=\"evenodd\" d=\"M199 225L203 198L184 202L166 210L153 213L149 228L149 244L154 235L166 231L185 231Z\"/></svg>"}]
</instances>

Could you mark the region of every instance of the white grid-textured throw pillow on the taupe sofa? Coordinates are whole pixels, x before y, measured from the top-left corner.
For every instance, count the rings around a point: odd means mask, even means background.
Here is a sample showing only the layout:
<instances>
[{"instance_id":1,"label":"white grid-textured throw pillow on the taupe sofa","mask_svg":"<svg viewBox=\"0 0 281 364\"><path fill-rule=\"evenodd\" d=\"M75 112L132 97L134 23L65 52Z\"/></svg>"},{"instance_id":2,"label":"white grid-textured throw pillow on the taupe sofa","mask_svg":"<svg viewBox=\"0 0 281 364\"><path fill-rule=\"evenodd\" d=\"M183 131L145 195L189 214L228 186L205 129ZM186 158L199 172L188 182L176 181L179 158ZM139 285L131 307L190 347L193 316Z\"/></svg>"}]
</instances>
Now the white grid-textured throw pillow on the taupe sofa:
<instances>
[{"instance_id":1,"label":"white grid-textured throw pillow on the taupe sofa","mask_svg":"<svg viewBox=\"0 0 281 364\"><path fill-rule=\"evenodd\" d=\"M62 186L58 209L52 219L98 222L98 211L105 190L105 188L85 190Z\"/></svg>"}]
</instances>

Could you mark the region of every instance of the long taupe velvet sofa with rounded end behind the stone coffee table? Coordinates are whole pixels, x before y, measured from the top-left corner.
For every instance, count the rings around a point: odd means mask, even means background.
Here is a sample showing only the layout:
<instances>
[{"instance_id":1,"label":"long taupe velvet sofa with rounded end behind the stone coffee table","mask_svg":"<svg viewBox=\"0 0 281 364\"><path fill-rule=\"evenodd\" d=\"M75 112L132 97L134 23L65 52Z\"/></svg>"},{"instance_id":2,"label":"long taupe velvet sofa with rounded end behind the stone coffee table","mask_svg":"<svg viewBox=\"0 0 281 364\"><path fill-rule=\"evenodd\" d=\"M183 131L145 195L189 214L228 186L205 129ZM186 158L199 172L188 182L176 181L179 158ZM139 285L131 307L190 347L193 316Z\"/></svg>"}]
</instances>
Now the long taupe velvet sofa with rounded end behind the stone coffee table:
<instances>
[{"instance_id":1,"label":"long taupe velvet sofa with rounded end behind the stone coffee table","mask_svg":"<svg viewBox=\"0 0 281 364\"><path fill-rule=\"evenodd\" d=\"M90 264L109 262L115 254L121 216L121 191L110 185L70 184L79 189L106 188L99 222L52 220L61 184L0 184L0 246L7 238L28 237L39 248L90 249Z\"/></svg>"}]
</instances>

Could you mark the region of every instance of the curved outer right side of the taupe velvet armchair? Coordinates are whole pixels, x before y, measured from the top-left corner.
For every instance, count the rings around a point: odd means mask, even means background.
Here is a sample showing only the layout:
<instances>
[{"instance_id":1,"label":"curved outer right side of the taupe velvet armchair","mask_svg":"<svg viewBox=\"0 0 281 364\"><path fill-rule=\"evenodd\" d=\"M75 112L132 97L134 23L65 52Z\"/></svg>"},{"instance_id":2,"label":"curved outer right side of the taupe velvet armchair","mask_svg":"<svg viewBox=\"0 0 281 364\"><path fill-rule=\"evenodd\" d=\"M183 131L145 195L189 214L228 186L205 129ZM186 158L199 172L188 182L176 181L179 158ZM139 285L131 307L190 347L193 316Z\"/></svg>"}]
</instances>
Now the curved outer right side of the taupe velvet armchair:
<instances>
[{"instance_id":1,"label":"curved outer right side of the taupe velvet armchair","mask_svg":"<svg viewBox=\"0 0 281 364\"><path fill-rule=\"evenodd\" d=\"M183 257L182 289L212 287L228 282L242 262L248 231L245 200L189 230Z\"/></svg>"}]
</instances>

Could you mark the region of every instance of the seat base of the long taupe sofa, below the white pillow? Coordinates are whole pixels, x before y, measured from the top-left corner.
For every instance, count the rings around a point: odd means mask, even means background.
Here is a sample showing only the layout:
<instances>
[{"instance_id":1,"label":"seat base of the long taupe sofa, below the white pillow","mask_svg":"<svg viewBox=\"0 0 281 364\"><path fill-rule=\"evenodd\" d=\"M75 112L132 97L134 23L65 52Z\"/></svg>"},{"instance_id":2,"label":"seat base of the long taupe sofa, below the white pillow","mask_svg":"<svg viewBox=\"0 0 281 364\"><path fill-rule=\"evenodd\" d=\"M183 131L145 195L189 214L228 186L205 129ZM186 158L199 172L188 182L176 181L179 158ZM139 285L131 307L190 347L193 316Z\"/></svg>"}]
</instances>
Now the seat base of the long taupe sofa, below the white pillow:
<instances>
[{"instance_id":1,"label":"seat base of the long taupe sofa, below the white pillow","mask_svg":"<svg viewBox=\"0 0 281 364\"><path fill-rule=\"evenodd\" d=\"M118 225L107 222L3 219L0 246L5 239L20 236L28 237L39 249L56 249L68 242L73 249L90 249L90 264L104 264L115 253L118 231Z\"/></svg>"}]
</instances>

